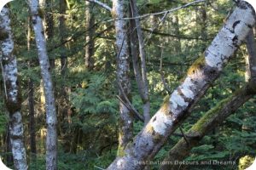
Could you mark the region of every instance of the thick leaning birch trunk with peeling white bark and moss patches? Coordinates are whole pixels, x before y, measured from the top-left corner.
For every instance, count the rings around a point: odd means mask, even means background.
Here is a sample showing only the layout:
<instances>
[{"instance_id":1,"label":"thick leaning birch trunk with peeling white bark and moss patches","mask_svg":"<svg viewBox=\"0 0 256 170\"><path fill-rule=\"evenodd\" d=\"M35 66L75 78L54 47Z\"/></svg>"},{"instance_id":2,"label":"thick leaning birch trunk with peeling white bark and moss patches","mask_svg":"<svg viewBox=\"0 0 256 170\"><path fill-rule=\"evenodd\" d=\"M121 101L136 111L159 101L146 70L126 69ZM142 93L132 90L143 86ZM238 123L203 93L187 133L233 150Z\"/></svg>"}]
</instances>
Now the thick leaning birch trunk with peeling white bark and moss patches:
<instances>
[{"instance_id":1,"label":"thick leaning birch trunk with peeling white bark and moss patches","mask_svg":"<svg viewBox=\"0 0 256 170\"><path fill-rule=\"evenodd\" d=\"M146 166L145 161L156 155L166 139L189 116L254 24L253 8L248 3L238 3L238 7L213 39L204 56L189 68L181 85L174 90L133 142L127 144L124 155L118 156L108 169L143 169Z\"/></svg>"}]
</instances>

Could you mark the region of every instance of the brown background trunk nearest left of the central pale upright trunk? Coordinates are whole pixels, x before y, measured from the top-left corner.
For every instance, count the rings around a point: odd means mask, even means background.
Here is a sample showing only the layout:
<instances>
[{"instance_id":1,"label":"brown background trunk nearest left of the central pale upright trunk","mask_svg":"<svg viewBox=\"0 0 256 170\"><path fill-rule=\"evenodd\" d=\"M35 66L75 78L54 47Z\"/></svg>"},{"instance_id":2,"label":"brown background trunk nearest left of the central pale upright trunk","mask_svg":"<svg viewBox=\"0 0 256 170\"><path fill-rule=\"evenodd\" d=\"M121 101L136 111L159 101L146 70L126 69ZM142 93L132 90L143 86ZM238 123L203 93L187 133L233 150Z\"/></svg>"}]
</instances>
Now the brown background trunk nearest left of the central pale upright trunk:
<instances>
[{"instance_id":1,"label":"brown background trunk nearest left of the central pale upright trunk","mask_svg":"<svg viewBox=\"0 0 256 170\"><path fill-rule=\"evenodd\" d=\"M85 11L85 28L87 30L86 36L85 36L85 42L88 43L85 48L85 68L89 71L93 69L94 61L93 61L93 55L94 55L94 39L93 35L95 33L95 20L94 20L94 14L93 14L93 4L86 1L86 11Z\"/></svg>"}]
</instances>

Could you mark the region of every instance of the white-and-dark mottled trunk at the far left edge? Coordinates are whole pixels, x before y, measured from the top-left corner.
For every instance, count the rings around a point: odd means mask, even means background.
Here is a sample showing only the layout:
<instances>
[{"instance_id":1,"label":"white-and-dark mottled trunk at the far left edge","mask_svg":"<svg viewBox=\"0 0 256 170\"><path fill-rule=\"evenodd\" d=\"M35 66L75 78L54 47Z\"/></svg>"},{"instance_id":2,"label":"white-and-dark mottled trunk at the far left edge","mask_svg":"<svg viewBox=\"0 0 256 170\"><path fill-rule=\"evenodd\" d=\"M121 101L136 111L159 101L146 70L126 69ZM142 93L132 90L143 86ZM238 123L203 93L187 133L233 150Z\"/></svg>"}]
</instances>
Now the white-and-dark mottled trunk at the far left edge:
<instances>
[{"instance_id":1,"label":"white-and-dark mottled trunk at the far left edge","mask_svg":"<svg viewBox=\"0 0 256 170\"><path fill-rule=\"evenodd\" d=\"M15 58L9 9L3 8L0 14L0 61L3 66L3 82L6 93L6 108L9 111L9 135L15 169L27 169L26 148L23 141L21 92L18 82L17 60Z\"/></svg>"}]
</instances>

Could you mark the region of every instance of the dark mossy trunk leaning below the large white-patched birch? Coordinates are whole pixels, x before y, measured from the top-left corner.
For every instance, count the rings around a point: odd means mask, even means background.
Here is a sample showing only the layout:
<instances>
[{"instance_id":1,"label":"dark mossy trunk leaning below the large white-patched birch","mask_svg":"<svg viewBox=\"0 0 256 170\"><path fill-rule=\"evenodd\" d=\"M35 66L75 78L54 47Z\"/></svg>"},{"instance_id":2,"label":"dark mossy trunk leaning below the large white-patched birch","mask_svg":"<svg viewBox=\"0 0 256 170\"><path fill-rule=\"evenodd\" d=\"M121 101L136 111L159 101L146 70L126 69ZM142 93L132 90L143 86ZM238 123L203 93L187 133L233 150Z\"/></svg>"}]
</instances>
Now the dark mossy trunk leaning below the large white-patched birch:
<instances>
[{"instance_id":1,"label":"dark mossy trunk leaning below the large white-patched birch","mask_svg":"<svg viewBox=\"0 0 256 170\"><path fill-rule=\"evenodd\" d=\"M241 88L231 95L228 99L224 99L213 107L210 111L201 117L193 127L189 129L186 139L180 139L177 144L169 151L166 156L164 165L160 166L160 170L178 169L180 165L175 165L174 161L182 161L189 156L190 150L198 145L201 139L217 127L220 123L234 113L241 105L255 94L255 83L250 82L244 88Z\"/></svg>"}]
</instances>

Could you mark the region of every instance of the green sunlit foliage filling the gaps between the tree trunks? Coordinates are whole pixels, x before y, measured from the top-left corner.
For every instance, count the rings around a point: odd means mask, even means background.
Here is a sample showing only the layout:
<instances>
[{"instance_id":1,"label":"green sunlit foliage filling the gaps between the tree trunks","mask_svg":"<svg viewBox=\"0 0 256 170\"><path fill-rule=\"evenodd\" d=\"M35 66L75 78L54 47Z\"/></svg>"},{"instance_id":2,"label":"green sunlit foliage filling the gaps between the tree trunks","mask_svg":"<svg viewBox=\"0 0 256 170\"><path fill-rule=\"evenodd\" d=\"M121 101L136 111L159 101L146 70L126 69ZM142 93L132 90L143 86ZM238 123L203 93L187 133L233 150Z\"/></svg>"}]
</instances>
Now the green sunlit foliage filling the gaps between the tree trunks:
<instances>
[{"instance_id":1,"label":"green sunlit foliage filling the gaps between the tree trunks","mask_svg":"<svg viewBox=\"0 0 256 170\"><path fill-rule=\"evenodd\" d=\"M66 31L64 42L59 35L59 1L51 1L47 9L53 14L54 36L47 40L49 59L55 60L51 68L55 84L55 98L58 109L58 167L59 169L99 169L108 167L116 156L119 127L119 100L116 95L119 89L116 77L116 49L114 45L115 31L110 13L100 6L92 5L95 18L93 35L94 68L88 71L84 68L84 47L88 45L84 39L90 29L85 28L85 1L67 0L65 15ZM111 1L102 0L111 6ZM140 14L160 12L175 8L190 0L137 0ZM127 1L128 3L128 1ZM171 91L183 81L189 65L203 54L207 45L212 42L219 28L234 8L232 1L209 0L205 3L183 8L172 14L154 15L141 20L143 36L146 42L148 88L150 94L150 114L158 111L160 104L168 94L160 77L160 59L165 81ZM15 37L15 55L18 59L21 92L23 96L22 111L25 117L25 141L29 145L29 102L28 81L34 82L34 101L36 111L36 133L38 141L38 156L30 160L30 169L45 169L44 139L42 129L45 126L44 101L42 85L40 85L40 68L38 66L37 49L32 33L31 50L27 50L27 19L29 18L25 1L16 0L11 3L11 17ZM24 10L20 10L20 8ZM203 16L206 12L206 17ZM109 28L109 29L107 29ZM106 31L107 29L107 31ZM129 37L129 35L127 36ZM67 71L63 74L61 54L67 58ZM208 89L207 94L195 106L192 115L183 122L186 132L213 106L234 93L245 83L245 60L247 49L239 48L219 77ZM132 62L131 62L132 63ZM131 65L131 103L140 113L143 112L143 102L140 98ZM3 80L1 80L3 84ZM1 84L1 86L2 86ZM3 88L3 87L2 87ZM66 94L63 93L66 90ZM3 90L3 89L2 89ZM2 92L2 91L1 91ZM0 147L6 148L3 138L6 135L8 116L4 110L3 93L0 100ZM215 127L211 133L201 140L201 145L195 147L186 161L236 161L236 165L214 167L207 165L203 169L238 169L239 158L255 157L256 148L256 107L255 99L250 99L236 113L230 116L220 127ZM62 111L63 110L63 111ZM66 112L65 112L66 111ZM134 134L143 128L143 122L135 120ZM181 134L179 129L176 134ZM166 145L160 150L154 161L162 161L168 150L172 148L180 135L172 135ZM28 152L30 148L28 147ZM7 150L9 153L9 151ZM2 154L2 153L1 153ZM246 164L246 163L244 163ZM158 169L159 165L152 166ZM198 167L184 166L186 169Z\"/></svg>"}]
</instances>

